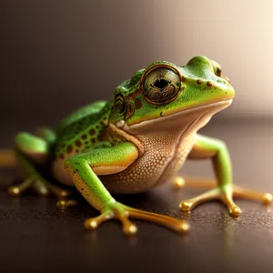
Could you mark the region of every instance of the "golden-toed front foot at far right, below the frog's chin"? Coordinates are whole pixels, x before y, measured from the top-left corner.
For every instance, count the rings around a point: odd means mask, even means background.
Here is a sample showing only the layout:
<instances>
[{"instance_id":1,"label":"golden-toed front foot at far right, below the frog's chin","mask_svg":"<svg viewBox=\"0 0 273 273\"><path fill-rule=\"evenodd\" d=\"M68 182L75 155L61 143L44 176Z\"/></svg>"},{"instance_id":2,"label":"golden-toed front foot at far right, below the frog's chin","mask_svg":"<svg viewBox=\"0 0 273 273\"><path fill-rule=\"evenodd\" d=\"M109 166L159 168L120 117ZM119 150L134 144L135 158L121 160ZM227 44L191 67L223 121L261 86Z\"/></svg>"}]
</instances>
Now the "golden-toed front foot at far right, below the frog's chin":
<instances>
[{"instance_id":1,"label":"golden-toed front foot at far right, below the frog's chin","mask_svg":"<svg viewBox=\"0 0 273 273\"><path fill-rule=\"evenodd\" d=\"M191 184L189 181L187 181L185 185L188 187L197 187L196 182L193 182ZM240 198L247 198L251 200L261 201L267 205L272 202L272 195L269 193L258 192L258 191L250 190L247 188L238 187L236 185L228 185L226 187L217 187L216 183L209 180L209 181L204 181L204 184L200 185L200 187L214 187L214 188L208 190L202 195L182 201L179 204L179 207L183 211L189 211L192 208L196 207L198 204L201 204L205 201L219 199L224 204L226 204L229 210L229 213L232 216L238 216L241 213L241 209L234 203L233 197L240 197Z\"/></svg>"}]
</instances>

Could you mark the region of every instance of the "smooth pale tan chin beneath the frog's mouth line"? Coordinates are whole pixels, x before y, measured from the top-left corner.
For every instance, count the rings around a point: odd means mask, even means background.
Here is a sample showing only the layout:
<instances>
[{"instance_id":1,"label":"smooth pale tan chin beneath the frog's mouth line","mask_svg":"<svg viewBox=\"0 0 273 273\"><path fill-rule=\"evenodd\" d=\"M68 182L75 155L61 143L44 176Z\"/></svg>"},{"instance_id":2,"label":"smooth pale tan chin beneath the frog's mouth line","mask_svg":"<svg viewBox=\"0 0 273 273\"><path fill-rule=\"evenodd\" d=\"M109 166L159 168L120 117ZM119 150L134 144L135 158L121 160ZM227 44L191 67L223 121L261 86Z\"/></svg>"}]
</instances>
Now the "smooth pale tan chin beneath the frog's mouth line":
<instances>
[{"instance_id":1,"label":"smooth pale tan chin beneath the frog's mouth line","mask_svg":"<svg viewBox=\"0 0 273 273\"><path fill-rule=\"evenodd\" d=\"M123 126L123 129L133 135L146 134L147 132L181 131L187 126L196 125L196 129L205 126L217 112L230 106L232 99L215 102L203 106L193 107L177 113L160 116L155 119L142 121L138 124Z\"/></svg>"}]
</instances>

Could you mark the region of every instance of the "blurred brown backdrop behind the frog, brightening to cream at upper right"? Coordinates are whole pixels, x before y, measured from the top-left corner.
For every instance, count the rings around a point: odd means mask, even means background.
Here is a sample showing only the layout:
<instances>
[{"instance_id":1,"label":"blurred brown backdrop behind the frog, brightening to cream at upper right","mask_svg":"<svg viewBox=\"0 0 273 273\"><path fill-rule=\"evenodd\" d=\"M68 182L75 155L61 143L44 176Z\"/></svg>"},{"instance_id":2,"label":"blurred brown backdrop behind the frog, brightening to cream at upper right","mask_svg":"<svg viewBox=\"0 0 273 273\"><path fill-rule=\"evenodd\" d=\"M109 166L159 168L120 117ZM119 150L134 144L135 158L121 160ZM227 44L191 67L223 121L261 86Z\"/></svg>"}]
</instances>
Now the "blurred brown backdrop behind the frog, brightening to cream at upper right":
<instances>
[{"instance_id":1,"label":"blurred brown backdrop behind the frog, brightening to cream at upper right","mask_svg":"<svg viewBox=\"0 0 273 273\"><path fill-rule=\"evenodd\" d=\"M272 3L3 0L0 121L55 125L152 61L196 55L217 60L236 88L219 118L273 116Z\"/></svg>"}]
</instances>

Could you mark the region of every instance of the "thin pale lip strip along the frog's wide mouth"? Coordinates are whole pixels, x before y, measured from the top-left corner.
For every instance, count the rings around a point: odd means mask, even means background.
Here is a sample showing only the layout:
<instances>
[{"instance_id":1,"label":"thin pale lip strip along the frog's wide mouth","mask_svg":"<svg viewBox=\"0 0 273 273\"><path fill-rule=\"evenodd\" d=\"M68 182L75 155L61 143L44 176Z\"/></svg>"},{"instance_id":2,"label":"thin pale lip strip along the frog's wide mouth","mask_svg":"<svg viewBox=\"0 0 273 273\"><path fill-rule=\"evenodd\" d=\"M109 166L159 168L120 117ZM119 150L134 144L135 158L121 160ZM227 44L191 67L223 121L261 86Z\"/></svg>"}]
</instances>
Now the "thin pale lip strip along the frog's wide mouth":
<instances>
[{"instance_id":1,"label":"thin pale lip strip along the frog's wide mouth","mask_svg":"<svg viewBox=\"0 0 273 273\"><path fill-rule=\"evenodd\" d=\"M141 121L140 123L133 124L130 126L126 125L124 127L124 129L126 131L132 130L132 129L138 129L138 128L141 128L144 126L155 125L159 122L161 124L167 124L169 121L179 120L179 118L181 118L183 116L195 116L195 114L198 115L198 113L200 113L200 116L203 116L204 114L209 114L210 116L213 116L217 112L227 108L227 106L230 106L232 104L232 101L233 101L233 99L231 98L231 99L218 101L218 102L214 102L214 103L207 103L202 106L195 106L192 108L183 109L183 110L177 111L175 113L174 112L162 113L161 116L158 116L156 118L144 120L144 121Z\"/></svg>"}]
</instances>

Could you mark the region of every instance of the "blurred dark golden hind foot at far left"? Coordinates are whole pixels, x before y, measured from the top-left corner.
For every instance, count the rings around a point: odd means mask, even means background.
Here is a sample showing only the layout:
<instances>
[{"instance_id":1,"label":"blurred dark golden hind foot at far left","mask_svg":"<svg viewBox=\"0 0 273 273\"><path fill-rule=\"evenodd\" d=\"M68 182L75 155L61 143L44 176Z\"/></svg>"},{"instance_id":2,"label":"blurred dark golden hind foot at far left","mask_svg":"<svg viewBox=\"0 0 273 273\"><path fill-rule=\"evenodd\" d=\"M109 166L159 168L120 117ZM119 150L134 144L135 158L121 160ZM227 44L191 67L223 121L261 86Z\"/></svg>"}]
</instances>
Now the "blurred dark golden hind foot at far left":
<instances>
[{"instance_id":1,"label":"blurred dark golden hind foot at far left","mask_svg":"<svg viewBox=\"0 0 273 273\"><path fill-rule=\"evenodd\" d=\"M43 177L29 177L25 179L21 184L9 187L7 191L14 197L21 196L28 189L34 189L35 192L41 196L47 196L53 194L57 199L57 207L66 208L68 206L75 205L74 200L69 200L68 197L72 195L70 190L63 189L50 182L45 181Z\"/></svg>"}]
</instances>

